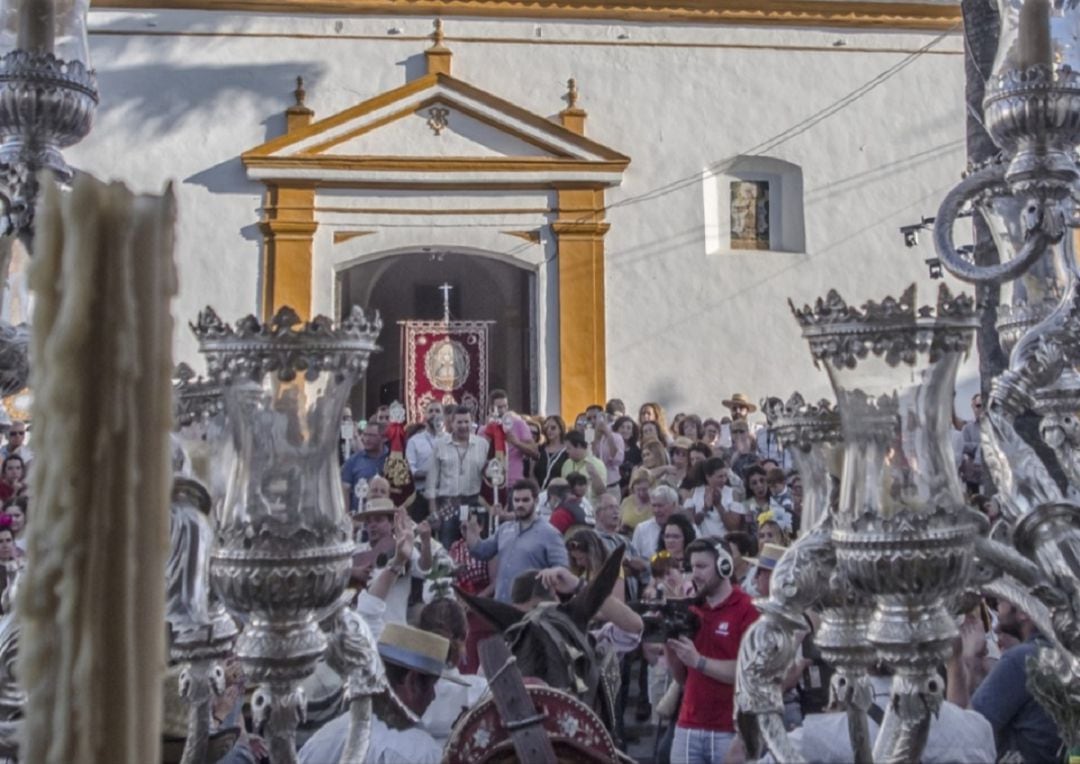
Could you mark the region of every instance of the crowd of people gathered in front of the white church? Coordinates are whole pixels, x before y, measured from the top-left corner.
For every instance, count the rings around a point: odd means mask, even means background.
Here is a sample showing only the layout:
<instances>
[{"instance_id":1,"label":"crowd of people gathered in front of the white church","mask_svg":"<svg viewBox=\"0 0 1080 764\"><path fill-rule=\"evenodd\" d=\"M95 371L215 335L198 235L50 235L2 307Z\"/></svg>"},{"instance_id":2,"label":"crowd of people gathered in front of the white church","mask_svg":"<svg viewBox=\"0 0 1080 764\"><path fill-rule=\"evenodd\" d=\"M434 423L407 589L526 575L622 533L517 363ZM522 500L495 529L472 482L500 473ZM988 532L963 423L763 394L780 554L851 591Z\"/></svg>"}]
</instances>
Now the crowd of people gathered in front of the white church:
<instances>
[{"instance_id":1,"label":"crowd of people gathered in front of the white church","mask_svg":"<svg viewBox=\"0 0 1080 764\"><path fill-rule=\"evenodd\" d=\"M356 540L351 606L378 642L389 683L375 705L368 761L440 761L455 721L487 692L478 644L496 631L455 590L529 612L581 591L620 549L618 581L589 626L590 639L619 666L609 732L623 750L650 748L658 762L740 761L740 642L758 615L754 598L769 597L773 569L804 532L792 454L768 423L754 420L757 407L744 394L725 400L715 418L669 420L656 402L630 415L611 400L571 425L558 415L519 414L499 390L488 404L484 421L460 406L426 406L404 443L411 492L397 500L387 474L389 411L359 423L347 414L343 423L341 482ZM976 416L980 408L976 396ZM958 475L993 520L977 423L955 425ZM32 463L25 423L5 438L4 586L24 561ZM984 600L964 616L942 667L947 701L931 723L923 761L1061 759L1057 731L1026 688L1026 658L1044 640L1023 604ZM831 668L814 646L815 614L806 620L783 685L785 724L808 761L853 761L846 719L829 708ZM231 666L227 678L216 728L237 724L243 710L243 673ZM876 734L888 667L877 667L872 684ZM348 743L343 691L324 665L306 683L301 764L340 758ZM254 764L265 754L262 742L244 734L220 761Z\"/></svg>"}]
</instances>

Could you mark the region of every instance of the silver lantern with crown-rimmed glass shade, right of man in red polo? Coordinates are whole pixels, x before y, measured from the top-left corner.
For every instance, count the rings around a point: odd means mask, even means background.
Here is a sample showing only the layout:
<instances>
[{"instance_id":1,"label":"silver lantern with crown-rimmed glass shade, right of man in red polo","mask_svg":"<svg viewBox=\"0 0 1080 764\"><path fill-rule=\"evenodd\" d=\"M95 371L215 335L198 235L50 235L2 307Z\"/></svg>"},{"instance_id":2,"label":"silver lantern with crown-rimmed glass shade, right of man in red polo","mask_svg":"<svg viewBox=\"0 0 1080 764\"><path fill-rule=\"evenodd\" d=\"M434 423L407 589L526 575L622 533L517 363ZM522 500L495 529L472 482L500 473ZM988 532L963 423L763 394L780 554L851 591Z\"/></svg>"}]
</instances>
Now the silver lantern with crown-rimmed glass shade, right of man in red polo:
<instances>
[{"instance_id":1,"label":"silver lantern with crown-rimmed glass shade, right of man in red polo","mask_svg":"<svg viewBox=\"0 0 1080 764\"><path fill-rule=\"evenodd\" d=\"M856 309L831 292L795 316L842 420L837 566L870 602L866 640L895 672L874 758L917 760L944 695L936 667L957 634L949 606L977 530L948 437L956 373L978 326L973 300L943 284L936 307L917 309L913 285Z\"/></svg>"}]
</instances>

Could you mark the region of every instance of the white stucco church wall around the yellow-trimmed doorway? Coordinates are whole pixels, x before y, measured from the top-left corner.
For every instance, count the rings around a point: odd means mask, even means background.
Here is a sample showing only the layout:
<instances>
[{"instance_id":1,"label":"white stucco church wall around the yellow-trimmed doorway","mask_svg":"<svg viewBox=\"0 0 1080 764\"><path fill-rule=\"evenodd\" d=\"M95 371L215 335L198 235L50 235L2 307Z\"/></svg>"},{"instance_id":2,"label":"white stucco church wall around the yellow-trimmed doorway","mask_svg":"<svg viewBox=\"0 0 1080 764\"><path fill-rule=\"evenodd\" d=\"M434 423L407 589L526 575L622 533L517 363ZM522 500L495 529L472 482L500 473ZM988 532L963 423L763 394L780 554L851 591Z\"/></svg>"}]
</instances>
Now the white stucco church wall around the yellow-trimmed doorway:
<instances>
[{"instance_id":1,"label":"white stucco church wall around the yellow-trimmed doorway","mask_svg":"<svg viewBox=\"0 0 1080 764\"><path fill-rule=\"evenodd\" d=\"M257 308L262 186L246 178L241 152L284 131L297 75L321 118L422 73L418 38L431 19L93 12L91 28L102 107L67 156L139 190L175 180L176 347L197 360L187 319L206 304L226 318ZM539 115L558 112L577 78L590 137L632 159L608 192L610 396L716 413L735 390L825 394L788 297L835 287L861 300L917 281L932 301L929 237L907 250L897 229L932 215L964 165L958 35L910 61L937 35L462 18L447 19L446 35L456 77ZM703 177L754 153L801 169L806 252L710 254ZM507 225L545 222L530 215ZM377 233L340 254L320 229L318 309L333 309L334 272L349 259L421 246L501 253L538 269L544 351L557 359L550 237L528 245L464 213L390 223L350 219ZM553 368L540 386L550 411Z\"/></svg>"}]
</instances>

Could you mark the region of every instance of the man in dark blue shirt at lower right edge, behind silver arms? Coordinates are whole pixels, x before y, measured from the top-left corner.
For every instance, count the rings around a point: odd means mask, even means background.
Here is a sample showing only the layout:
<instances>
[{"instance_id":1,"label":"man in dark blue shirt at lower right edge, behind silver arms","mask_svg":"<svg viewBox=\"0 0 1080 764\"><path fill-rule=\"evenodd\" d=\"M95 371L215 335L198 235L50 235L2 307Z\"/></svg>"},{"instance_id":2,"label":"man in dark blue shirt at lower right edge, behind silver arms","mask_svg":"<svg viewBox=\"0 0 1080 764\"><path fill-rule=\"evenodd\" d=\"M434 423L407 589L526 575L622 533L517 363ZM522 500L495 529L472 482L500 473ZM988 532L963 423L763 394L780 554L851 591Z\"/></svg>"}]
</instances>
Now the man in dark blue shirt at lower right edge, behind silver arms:
<instances>
[{"instance_id":1,"label":"man in dark blue shirt at lower right edge, behind silver arms","mask_svg":"<svg viewBox=\"0 0 1080 764\"><path fill-rule=\"evenodd\" d=\"M999 760L1012 752L1025 762L1061 761L1057 726L1027 688L1027 658L1049 643L1026 613L1004 600L998 603L997 629L1023 642L1001 654L975 691L971 708L994 727Z\"/></svg>"}]
</instances>

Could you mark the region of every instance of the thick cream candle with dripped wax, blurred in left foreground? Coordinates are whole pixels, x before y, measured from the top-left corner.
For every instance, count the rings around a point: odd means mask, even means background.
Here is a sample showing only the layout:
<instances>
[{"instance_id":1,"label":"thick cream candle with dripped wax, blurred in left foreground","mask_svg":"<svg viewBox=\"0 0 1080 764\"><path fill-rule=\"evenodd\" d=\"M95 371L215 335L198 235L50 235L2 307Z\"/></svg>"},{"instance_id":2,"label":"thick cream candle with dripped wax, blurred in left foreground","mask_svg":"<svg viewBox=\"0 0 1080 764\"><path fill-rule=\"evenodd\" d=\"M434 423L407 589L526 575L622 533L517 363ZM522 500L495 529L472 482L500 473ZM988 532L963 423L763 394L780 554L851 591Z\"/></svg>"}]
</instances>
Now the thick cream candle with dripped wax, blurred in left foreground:
<instances>
[{"instance_id":1,"label":"thick cream candle with dripped wax, blurred in left foreground","mask_svg":"<svg viewBox=\"0 0 1080 764\"><path fill-rule=\"evenodd\" d=\"M19 760L148 764L165 667L173 195L43 183Z\"/></svg>"}]
</instances>

